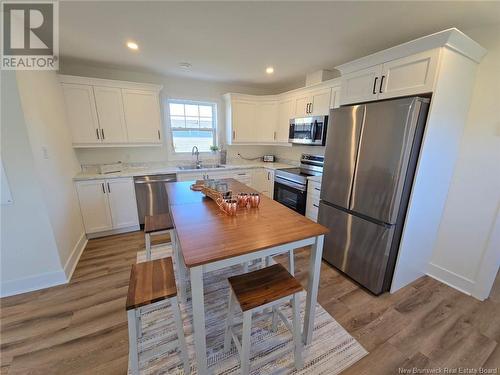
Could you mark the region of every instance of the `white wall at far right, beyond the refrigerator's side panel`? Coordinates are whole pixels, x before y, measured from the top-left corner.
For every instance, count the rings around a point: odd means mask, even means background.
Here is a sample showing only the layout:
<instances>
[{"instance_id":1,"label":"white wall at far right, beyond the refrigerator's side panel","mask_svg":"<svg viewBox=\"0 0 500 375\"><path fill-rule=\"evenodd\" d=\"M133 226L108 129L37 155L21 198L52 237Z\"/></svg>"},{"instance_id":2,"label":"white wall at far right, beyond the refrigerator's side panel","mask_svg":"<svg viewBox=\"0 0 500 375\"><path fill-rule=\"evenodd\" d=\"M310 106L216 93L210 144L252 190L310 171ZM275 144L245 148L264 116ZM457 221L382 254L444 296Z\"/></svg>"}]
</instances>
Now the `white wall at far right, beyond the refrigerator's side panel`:
<instances>
[{"instance_id":1,"label":"white wall at far right, beyond the refrigerator's side panel","mask_svg":"<svg viewBox=\"0 0 500 375\"><path fill-rule=\"evenodd\" d=\"M477 71L429 273L483 299L500 262L500 27L465 33L488 54Z\"/></svg>"}]
</instances>

